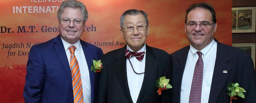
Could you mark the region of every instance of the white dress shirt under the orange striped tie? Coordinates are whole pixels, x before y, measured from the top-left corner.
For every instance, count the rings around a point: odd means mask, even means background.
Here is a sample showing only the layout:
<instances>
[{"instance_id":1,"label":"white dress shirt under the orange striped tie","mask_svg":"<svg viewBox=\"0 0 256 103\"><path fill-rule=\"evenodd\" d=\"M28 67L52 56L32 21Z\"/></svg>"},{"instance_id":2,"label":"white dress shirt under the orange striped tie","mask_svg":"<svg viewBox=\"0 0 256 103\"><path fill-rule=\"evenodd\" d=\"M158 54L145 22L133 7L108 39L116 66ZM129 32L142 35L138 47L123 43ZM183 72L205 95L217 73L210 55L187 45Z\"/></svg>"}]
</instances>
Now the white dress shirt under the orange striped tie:
<instances>
[{"instance_id":1,"label":"white dress shirt under the orange striped tie","mask_svg":"<svg viewBox=\"0 0 256 103\"><path fill-rule=\"evenodd\" d=\"M69 51L69 46L72 46L71 44L69 44L67 41L65 41L64 39L62 39L66 54L67 54L67 58L69 61L69 66L70 66L70 51ZM75 49L75 56L79 65L79 69L80 69L80 74L81 74L81 80L82 80L82 87L83 87L83 98L84 98L84 103L91 103L91 83L90 83L90 76L89 76L89 69L88 69L88 65L86 62L86 58L84 55L84 51L82 48L82 45L80 43L80 40L76 41L75 44L73 44L76 49Z\"/></svg>"}]
</instances>

